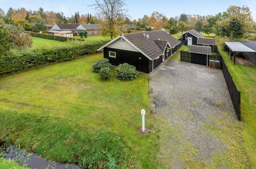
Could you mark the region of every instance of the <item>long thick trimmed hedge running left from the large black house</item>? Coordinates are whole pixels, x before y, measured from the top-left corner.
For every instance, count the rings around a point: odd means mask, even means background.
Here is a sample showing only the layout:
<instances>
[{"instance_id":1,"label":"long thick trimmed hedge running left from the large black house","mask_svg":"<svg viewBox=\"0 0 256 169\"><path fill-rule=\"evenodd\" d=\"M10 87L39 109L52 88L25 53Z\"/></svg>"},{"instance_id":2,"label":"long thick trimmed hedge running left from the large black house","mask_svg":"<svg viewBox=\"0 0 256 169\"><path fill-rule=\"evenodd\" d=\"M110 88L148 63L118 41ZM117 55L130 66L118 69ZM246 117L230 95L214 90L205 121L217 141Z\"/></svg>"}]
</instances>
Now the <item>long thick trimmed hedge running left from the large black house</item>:
<instances>
[{"instance_id":1,"label":"long thick trimmed hedge running left from the large black house","mask_svg":"<svg viewBox=\"0 0 256 169\"><path fill-rule=\"evenodd\" d=\"M108 40L80 42L75 45L67 43L53 48L11 50L0 57L0 74L25 70L47 62L72 60L86 54L94 54L106 43Z\"/></svg>"}]
</instances>

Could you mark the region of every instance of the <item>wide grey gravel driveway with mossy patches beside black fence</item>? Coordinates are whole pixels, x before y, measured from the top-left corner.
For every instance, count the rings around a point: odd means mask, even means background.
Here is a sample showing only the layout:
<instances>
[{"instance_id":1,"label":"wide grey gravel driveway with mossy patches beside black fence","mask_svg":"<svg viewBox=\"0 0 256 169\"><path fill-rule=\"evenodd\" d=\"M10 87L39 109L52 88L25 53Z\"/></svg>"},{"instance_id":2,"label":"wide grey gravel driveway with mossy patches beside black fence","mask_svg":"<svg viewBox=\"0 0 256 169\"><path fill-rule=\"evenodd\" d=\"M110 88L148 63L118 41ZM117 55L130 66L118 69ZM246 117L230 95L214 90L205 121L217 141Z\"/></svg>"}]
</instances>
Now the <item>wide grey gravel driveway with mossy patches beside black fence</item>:
<instances>
[{"instance_id":1,"label":"wide grey gravel driveway with mossy patches beside black fence","mask_svg":"<svg viewBox=\"0 0 256 169\"><path fill-rule=\"evenodd\" d=\"M237 155L230 142L241 141L240 123L221 70L168 60L150 79L160 126L159 159L166 167L230 168L239 162L237 157L232 161Z\"/></svg>"}]
</instances>

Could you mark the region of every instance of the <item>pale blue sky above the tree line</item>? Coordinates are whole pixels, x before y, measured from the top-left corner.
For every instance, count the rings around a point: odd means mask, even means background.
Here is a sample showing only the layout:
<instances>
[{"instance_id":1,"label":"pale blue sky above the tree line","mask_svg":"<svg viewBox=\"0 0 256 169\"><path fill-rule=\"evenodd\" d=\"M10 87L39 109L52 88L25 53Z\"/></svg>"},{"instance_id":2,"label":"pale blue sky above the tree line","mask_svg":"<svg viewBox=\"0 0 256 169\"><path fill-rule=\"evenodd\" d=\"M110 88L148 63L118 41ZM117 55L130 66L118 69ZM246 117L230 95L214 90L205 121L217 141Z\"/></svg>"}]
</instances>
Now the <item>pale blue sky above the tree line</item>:
<instances>
[{"instance_id":1,"label":"pale blue sky above the tree line","mask_svg":"<svg viewBox=\"0 0 256 169\"><path fill-rule=\"evenodd\" d=\"M37 10L39 7L45 11L64 12L65 16L74 15L75 11L80 14L96 11L88 7L94 3L94 0L0 0L0 8L5 12L12 7L26 8L27 10ZM144 14L150 15L153 11L164 13L168 18L175 17L181 13L214 15L218 12L226 11L230 5L249 6L254 20L256 19L256 0L214 0L214 1L168 1L168 0L126 0L127 8L131 19L143 17Z\"/></svg>"}]
</instances>

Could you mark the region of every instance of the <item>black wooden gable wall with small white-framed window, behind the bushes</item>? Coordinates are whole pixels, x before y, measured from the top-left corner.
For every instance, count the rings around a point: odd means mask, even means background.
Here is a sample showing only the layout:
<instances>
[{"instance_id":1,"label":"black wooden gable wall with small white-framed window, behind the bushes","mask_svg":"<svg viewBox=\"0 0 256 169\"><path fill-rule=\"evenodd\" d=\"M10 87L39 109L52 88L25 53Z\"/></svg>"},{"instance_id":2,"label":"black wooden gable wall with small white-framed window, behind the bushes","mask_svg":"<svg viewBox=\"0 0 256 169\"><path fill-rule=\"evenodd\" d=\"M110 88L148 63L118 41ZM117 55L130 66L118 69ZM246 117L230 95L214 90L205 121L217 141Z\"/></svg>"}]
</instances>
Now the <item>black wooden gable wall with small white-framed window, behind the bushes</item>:
<instances>
[{"instance_id":1,"label":"black wooden gable wall with small white-framed window, behind the bushes","mask_svg":"<svg viewBox=\"0 0 256 169\"><path fill-rule=\"evenodd\" d=\"M109 57L109 51L116 53L115 58ZM140 52L106 47L104 48L104 58L108 58L110 64L114 66L119 66L120 64L127 63L136 67L136 70L140 72L149 73L152 71L152 61Z\"/></svg>"}]
</instances>

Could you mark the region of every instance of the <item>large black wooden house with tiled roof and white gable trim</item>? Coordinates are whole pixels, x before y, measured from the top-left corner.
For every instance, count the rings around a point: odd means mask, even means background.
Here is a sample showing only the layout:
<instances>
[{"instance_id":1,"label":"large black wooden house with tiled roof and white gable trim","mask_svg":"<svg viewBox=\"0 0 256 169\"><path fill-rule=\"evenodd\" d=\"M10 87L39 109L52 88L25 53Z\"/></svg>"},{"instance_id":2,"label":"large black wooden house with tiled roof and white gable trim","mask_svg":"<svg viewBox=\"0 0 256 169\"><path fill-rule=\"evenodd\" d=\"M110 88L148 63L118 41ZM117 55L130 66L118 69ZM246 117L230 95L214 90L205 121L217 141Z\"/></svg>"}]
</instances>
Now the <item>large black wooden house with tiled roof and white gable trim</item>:
<instances>
[{"instance_id":1,"label":"large black wooden house with tiled roof and white gable trim","mask_svg":"<svg viewBox=\"0 0 256 169\"><path fill-rule=\"evenodd\" d=\"M128 63L137 71L150 73L181 47L181 41L163 30L121 34L98 51L104 50L114 66Z\"/></svg>"}]
</instances>

